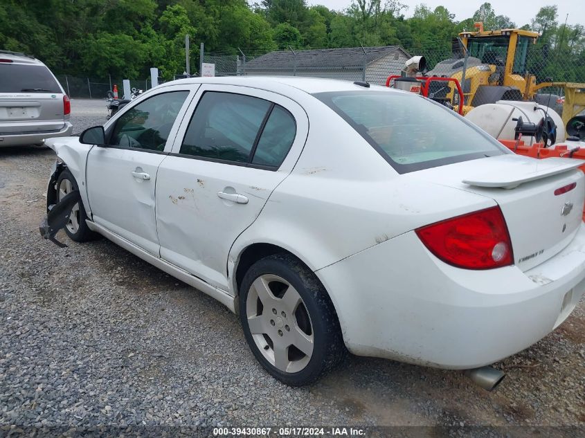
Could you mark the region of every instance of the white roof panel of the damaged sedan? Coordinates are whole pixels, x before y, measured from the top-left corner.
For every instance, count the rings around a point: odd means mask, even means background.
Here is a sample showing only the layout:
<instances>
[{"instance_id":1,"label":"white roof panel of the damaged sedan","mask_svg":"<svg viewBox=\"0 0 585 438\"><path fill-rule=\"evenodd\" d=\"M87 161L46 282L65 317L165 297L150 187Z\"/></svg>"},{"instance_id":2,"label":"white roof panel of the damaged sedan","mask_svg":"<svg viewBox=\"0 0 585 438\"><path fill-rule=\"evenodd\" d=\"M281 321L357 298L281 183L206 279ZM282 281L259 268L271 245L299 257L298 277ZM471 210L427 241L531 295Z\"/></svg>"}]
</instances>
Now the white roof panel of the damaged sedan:
<instances>
[{"instance_id":1,"label":"white roof panel of the damaged sedan","mask_svg":"<svg viewBox=\"0 0 585 438\"><path fill-rule=\"evenodd\" d=\"M363 82L361 82L363 84ZM188 77L179 79L170 84L224 84L251 86L253 88L264 89L267 91L284 91L288 87L305 91L309 94L323 93L327 91L356 91L356 90L382 90L392 91L386 86L371 85L370 88L358 85L351 81L323 79L318 77L298 77L298 76L223 76L223 77Z\"/></svg>"}]
</instances>

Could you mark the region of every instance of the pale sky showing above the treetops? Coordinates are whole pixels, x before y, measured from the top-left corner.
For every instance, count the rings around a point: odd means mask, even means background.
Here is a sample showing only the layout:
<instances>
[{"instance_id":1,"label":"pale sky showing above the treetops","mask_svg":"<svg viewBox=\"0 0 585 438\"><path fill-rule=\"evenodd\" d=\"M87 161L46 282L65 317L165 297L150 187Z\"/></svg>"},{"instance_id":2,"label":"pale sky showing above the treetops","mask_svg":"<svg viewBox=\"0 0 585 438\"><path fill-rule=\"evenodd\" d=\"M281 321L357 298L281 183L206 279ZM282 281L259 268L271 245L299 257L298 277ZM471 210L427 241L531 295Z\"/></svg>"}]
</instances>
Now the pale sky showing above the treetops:
<instances>
[{"instance_id":1,"label":"pale sky showing above the treetops","mask_svg":"<svg viewBox=\"0 0 585 438\"><path fill-rule=\"evenodd\" d=\"M415 6L420 3L425 3L431 10L437 6L444 6L455 14L457 21L472 17L474 12L485 2L489 1L496 15L507 15L516 23L517 26L530 24L530 20L534 18L542 6L554 5L555 2L559 7L559 15L557 21L559 24L565 22L565 17L568 14L568 24L584 24L585 17L582 14L583 0L484 0L484 1L461 1L461 0L399 0L400 3L406 4L408 10L403 12L405 17L411 17L415 10ZM324 5L327 8L334 10L343 10L351 4L351 0L307 0L309 5ZM382 0L382 3L385 3Z\"/></svg>"}]
</instances>

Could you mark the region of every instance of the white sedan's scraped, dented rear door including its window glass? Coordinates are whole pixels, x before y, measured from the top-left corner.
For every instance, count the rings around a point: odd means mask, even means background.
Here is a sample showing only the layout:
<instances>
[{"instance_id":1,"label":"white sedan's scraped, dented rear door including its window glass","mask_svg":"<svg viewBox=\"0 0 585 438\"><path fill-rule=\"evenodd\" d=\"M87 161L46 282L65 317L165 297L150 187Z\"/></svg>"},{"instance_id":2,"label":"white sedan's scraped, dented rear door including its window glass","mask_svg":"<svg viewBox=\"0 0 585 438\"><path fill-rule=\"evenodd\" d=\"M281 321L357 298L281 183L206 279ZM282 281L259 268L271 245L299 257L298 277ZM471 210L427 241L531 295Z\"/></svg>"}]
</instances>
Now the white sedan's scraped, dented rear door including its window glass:
<instances>
[{"instance_id":1,"label":"white sedan's scraped, dented rear door including its window glass","mask_svg":"<svg viewBox=\"0 0 585 438\"><path fill-rule=\"evenodd\" d=\"M291 172L308 127L282 95L202 85L159 167L161 258L227 291L229 250Z\"/></svg>"}]
</instances>

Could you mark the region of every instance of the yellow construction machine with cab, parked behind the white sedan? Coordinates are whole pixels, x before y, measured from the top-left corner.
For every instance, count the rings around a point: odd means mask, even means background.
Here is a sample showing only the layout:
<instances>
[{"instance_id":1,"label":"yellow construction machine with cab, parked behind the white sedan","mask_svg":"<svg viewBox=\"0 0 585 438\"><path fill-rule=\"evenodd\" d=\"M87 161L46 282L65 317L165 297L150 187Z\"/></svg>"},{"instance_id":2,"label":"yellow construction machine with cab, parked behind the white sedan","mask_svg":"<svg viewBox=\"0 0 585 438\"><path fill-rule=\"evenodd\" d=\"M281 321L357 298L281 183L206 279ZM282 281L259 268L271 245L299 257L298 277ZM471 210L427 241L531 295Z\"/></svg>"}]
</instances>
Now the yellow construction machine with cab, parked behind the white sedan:
<instances>
[{"instance_id":1,"label":"yellow construction machine with cab, parked behind the white sedan","mask_svg":"<svg viewBox=\"0 0 585 438\"><path fill-rule=\"evenodd\" d=\"M541 82L527 71L530 46L540 36L522 29L484 30L483 23L475 24L476 31L459 34L460 57L439 62L427 76L453 77L461 84L463 114L481 104L498 100L535 101L551 106L548 93L538 91L548 86L564 89L563 125L585 109L585 84L572 82ZM461 53L462 52L462 53ZM459 93L453 83L443 93L453 107L459 104Z\"/></svg>"}]
</instances>

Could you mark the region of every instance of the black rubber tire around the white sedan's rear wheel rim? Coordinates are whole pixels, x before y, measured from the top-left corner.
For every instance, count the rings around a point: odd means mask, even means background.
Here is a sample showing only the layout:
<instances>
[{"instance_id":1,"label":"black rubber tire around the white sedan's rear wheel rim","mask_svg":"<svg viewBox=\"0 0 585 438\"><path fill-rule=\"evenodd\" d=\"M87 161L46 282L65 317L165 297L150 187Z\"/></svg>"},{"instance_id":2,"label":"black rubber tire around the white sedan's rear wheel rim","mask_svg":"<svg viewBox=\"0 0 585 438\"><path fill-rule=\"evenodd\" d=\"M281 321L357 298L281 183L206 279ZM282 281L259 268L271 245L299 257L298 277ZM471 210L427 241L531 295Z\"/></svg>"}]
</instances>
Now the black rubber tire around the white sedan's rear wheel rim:
<instances>
[{"instance_id":1,"label":"black rubber tire around the white sedan's rear wheel rim","mask_svg":"<svg viewBox=\"0 0 585 438\"><path fill-rule=\"evenodd\" d=\"M260 347L256 343L257 341L254 340L254 337L251 333L248 320L249 311L246 308L246 305L248 304L247 298L249 293L251 293L251 287L253 283L262 277L262 275L274 275L286 280L290 286L296 289L298 295L300 295L300 298L302 299L304 309L302 309L300 304L298 304L298 308L296 310L302 310L303 314L305 314L306 311L309 316L309 325L311 326L310 329L312 332L313 342L312 354L311 356L306 356L305 361L308 360L308 363L304 365L303 369L300 369L297 372L286 372L273 365L273 363L271 363L269 359L264 356L265 353L260 350ZM272 285L273 283L269 282L268 284ZM276 282L276 284L278 284L278 282ZM271 286L271 288L272 287L273 286ZM285 289L284 294L287 293L287 290L289 289ZM276 293L274 293L274 296L276 297ZM258 359L260 364L264 367L264 369L266 369L272 376L277 378L282 383L291 386L307 385L316 381L318 378L323 376L323 374L330 372L330 370L336 367L336 365L339 365L339 363L343 361L343 358L345 358L347 350L345 349L345 345L343 343L343 336L341 334L341 328L339 327L339 319L337 318L337 313L334 309L333 303L331 302L329 295L327 295L327 291L325 291L325 288L321 282L319 282L316 275L314 275L314 273L312 273L312 271L307 268L303 262L301 262L293 255L271 255L269 257L265 257L264 259L260 259L258 262L253 264L246 272L246 275L244 275L244 279L242 280L242 284L240 286L239 299L240 322L242 323L244 336L246 337L246 341L248 342L250 349L252 350L255 358ZM254 302L253 300L254 298L251 297L251 303ZM259 296L258 300L260 301ZM250 305L253 307L255 304ZM280 311L277 313L280 313ZM289 323L291 325L293 323L295 325L300 325L298 316L298 313L294 313L294 322ZM264 313L262 313L262 318L266 318ZM270 316L267 318L270 318ZM291 320L291 315L289 315L288 318ZM282 324L282 318L278 319L280 320L280 324ZM271 325L273 325L272 321ZM288 329L288 325L285 327L288 331L294 330L294 328ZM276 328L278 328L278 326L268 327L268 330L270 331ZM288 334L285 335L288 336ZM257 334L256 336L259 335ZM271 333L268 335L260 334L260 336L264 336L264 338L266 338L266 336L273 336L278 340L278 336L282 336L282 334L276 335L271 331ZM282 343L282 339L285 338L286 336L281 338L280 342ZM260 340L260 342L262 341ZM269 343L268 340L267 343ZM269 345L264 346L264 350L269 351L269 348L267 347L269 347ZM289 360L291 357L290 347L291 346L286 347L287 358ZM302 354L302 352L300 353Z\"/></svg>"}]
</instances>

